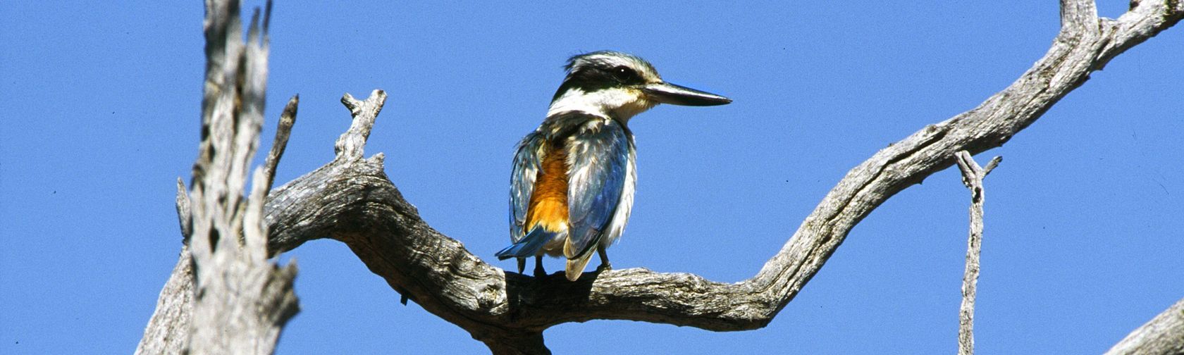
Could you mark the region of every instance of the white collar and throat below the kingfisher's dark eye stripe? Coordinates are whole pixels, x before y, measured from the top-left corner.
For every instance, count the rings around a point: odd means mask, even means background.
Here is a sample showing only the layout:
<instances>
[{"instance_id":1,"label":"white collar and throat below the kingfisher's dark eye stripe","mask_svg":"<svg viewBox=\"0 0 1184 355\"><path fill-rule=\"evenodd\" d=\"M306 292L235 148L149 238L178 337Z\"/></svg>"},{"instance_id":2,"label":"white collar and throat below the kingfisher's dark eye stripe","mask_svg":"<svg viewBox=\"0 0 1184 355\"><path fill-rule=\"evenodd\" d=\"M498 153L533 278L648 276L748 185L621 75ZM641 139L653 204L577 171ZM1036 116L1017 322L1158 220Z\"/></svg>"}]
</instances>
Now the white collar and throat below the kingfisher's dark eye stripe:
<instances>
[{"instance_id":1,"label":"white collar and throat below the kingfisher's dark eye stripe","mask_svg":"<svg viewBox=\"0 0 1184 355\"><path fill-rule=\"evenodd\" d=\"M645 95L637 89L612 88L592 92L571 89L551 103L547 116L565 111L583 111L628 123L629 118L657 104L656 101L645 99Z\"/></svg>"}]
</instances>

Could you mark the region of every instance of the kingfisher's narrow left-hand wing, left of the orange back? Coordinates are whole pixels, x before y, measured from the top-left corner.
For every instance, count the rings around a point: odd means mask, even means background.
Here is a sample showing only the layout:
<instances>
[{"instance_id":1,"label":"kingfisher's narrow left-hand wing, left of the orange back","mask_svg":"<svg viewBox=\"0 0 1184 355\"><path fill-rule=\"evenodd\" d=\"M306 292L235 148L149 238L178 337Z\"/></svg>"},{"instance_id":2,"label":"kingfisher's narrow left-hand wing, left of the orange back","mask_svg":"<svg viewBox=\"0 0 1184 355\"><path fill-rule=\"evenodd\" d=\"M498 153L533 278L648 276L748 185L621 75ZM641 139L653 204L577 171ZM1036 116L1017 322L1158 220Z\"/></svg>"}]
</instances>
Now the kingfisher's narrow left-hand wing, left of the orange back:
<instances>
[{"instance_id":1,"label":"kingfisher's narrow left-hand wing, left of the orange back","mask_svg":"<svg viewBox=\"0 0 1184 355\"><path fill-rule=\"evenodd\" d=\"M510 173L510 241L517 243L526 231L526 209L530 204L530 194L534 192L534 180L539 176L539 164L541 161L540 148L545 144L546 137L539 131L533 131L519 143L517 153L514 154L514 170Z\"/></svg>"}]
</instances>

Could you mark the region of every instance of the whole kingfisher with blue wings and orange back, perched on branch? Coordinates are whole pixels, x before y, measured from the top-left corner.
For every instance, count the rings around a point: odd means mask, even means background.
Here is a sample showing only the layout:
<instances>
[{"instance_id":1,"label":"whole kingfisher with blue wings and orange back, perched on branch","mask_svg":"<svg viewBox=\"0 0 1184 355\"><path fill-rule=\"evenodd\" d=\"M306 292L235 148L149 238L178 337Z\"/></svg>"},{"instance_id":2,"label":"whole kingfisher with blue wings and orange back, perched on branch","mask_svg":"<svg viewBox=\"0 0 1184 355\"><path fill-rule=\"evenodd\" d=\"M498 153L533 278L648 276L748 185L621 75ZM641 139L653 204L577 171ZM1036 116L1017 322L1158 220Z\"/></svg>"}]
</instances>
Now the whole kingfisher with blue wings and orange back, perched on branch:
<instances>
[{"instance_id":1,"label":"whole kingfisher with blue wings and orange back, perched on branch","mask_svg":"<svg viewBox=\"0 0 1184 355\"><path fill-rule=\"evenodd\" d=\"M565 276L579 279L594 250L597 270L611 270L605 248L620 238L633 206L636 148L629 120L659 103L710 106L732 99L667 83L649 62L614 51L574 56L551 99L547 118L514 154L510 175L510 246L519 273L535 257L567 259Z\"/></svg>"}]
</instances>

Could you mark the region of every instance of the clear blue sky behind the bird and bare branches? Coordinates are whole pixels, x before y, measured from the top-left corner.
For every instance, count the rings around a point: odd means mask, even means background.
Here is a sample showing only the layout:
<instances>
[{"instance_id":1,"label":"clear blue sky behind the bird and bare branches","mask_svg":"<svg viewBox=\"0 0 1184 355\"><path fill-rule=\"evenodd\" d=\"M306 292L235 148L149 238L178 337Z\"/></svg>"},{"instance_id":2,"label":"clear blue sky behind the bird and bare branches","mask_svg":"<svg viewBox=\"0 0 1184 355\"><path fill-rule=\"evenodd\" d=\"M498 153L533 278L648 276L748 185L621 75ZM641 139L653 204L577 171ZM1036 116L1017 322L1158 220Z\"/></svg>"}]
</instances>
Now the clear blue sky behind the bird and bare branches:
<instances>
[{"instance_id":1,"label":"clear blue sky behind the bird and bare branches","mask_svg":"<svg viewBox=\"0 0 1184 355\"><path fill-rule=\"evenodd\" d=\"M118 354L180 250L174 181L198 148L199 1L0 4L0 353ZM259 1L249 1L257 6ZM1118 17L1126 0L1100 12ZM277 183L333 157L345 92L391 97L367 144L435 228L502 267L515 143L572 54L620 50L714 108L635 118L633 217L613 265L752 277L852 167L978 105L1044 54L1056 1L534 4L279 0L264 147ZM1094 354L1184 297L1184 28L1115 58L1005 147L986 179L979 354ZM556 354L950 354L969 193L957 169L876 209L765 329L593 321ZM341 243L296 259L279 354L484 353ZM559 270L558 260L548 262Z\"/></svg>"}]
</instances>

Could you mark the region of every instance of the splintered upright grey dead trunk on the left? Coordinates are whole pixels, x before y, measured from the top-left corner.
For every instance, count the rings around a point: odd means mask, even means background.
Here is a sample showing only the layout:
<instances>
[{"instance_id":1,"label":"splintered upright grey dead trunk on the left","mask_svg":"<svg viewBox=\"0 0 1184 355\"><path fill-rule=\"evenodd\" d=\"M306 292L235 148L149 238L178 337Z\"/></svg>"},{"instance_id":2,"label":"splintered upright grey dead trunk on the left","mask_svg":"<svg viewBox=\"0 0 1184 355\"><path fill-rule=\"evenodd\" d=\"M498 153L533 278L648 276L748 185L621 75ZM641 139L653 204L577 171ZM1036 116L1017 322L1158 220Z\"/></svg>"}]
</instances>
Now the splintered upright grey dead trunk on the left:
<instances>
[{"instance_id":1,"label":"splintered upright grey dead trunk on the left","mask_svg":"<svg viewBox=\"0 0 1184 355\"><path fill-rule=\"evenodd\" d=\"M295 265L266 260L264 182L282 147L272 149L268 169L255 170L253 189L242 200L263 124L268 45L258 11L243 43L238 13L238 1L206 2L202 141L189 195L178 181L178 218L187 245L137 354L271 354L297 311Z\"/></svg>"}]
</instances>

